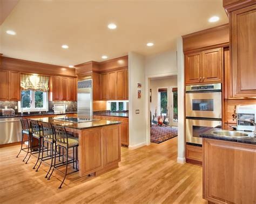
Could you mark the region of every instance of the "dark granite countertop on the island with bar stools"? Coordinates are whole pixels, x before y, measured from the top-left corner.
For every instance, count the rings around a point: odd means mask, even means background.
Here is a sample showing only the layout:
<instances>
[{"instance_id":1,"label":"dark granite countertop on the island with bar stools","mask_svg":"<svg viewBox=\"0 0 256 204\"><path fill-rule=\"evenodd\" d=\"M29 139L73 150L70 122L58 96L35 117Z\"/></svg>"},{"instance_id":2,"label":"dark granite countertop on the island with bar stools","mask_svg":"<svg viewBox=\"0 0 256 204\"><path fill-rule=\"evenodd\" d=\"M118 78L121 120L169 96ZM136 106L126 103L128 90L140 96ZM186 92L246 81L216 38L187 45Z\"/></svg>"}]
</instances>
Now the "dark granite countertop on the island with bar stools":
<instances>
[{"instance_id":1,"label":"dark granite countertop on the island with bar stools","mask_svg":"<svg viewBox=\"0 0 256 204\"><path fill-rule=\"evenodd\" d=\"M106 125L116 125L120 124L119 121L105 121L105 120L95 120L92 122L84 122L84 123L72 123L69 121L58 121L55 117L43 117L43 118L31 118L31 120L34 121L41 121L41 122L47 122L52 123L56 125L62 125L65 126L65 128L73 128L73 129L90 129L90 128L98 128L100 126L106 126Z\"/></svg>"}]
</instances>

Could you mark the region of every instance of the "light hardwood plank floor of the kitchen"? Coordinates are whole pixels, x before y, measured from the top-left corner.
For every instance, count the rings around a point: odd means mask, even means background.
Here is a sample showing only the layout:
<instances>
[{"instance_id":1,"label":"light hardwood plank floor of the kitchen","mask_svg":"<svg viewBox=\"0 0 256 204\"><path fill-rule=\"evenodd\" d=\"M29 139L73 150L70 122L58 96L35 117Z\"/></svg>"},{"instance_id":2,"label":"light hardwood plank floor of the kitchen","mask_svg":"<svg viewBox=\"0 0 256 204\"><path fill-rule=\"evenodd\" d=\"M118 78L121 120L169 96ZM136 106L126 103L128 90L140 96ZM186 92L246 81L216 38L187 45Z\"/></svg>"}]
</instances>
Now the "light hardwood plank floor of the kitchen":
<instances>
[{"instance_id":1,"label":"light hardwood plank floor of the kitchen","mask_svg":"<svg viewBox=\"0 0 256 204\"><path fill-rule=\"evenodd\" d=\"M0 203L206 203L202 168L178 164L177 137L137 150L122 147L119 168L98 177L44 178L48 166L32 170L35 158L16 158L19 146L0 149Z\"/></svg>"}]
</instances>

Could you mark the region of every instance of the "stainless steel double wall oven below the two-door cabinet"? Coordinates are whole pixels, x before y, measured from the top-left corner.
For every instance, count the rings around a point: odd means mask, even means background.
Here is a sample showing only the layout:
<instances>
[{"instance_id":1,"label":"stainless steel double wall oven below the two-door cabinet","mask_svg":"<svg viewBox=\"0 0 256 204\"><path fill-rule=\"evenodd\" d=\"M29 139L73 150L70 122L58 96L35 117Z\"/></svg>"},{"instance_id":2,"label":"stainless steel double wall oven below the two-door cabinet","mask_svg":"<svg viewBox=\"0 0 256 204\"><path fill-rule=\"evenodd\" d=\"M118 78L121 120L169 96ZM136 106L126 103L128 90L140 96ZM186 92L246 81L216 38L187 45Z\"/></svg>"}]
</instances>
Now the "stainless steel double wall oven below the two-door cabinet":
<instances>
[{"instance_id":1,"label":"stainless steel double wall oven below the two-door cabinet","mask_svg":"<svg viewBox=\"0 0 256 204\"><path fill-rule=\"evenodd\" d=\"M221 83L186 86L186 142L201 145L199 137L221 124Z\"/></svg>"}]
</instances>

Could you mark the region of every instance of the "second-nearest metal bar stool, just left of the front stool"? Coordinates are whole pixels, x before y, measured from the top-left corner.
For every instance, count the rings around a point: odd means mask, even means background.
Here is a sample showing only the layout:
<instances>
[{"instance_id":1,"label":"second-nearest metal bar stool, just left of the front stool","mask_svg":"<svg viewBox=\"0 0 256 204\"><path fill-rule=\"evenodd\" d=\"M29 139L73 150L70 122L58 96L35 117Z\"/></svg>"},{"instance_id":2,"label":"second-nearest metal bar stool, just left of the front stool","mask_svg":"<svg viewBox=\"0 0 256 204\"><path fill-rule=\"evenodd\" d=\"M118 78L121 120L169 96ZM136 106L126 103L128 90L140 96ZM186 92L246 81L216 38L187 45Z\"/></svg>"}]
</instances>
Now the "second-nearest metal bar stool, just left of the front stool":
<instances>
[{"instance_id":1,"label":"second-nearest metal bar stool, just left of the front stool","mask_svg":"<svg viewBox=\"0 0 256 204\"><path fill-rule=\"evenodd\" d=\"M50 166L49 171L47 172L47 174L45 175L45 178L48 177L48 174L51 171L51 168L53 166L53 152L54 152L54 147L55 147L55 136L54 136L54 131L53 131L53 127L51 123L46 123L46 122L40 122L40 125L42 127L42 157L41 157L41 161L36 169L36 171L38 171L39 167L41 166L42 162L46 163L46 160L51 159L51 164L48 164ZM47 146L45 147L45 143L47 144ZM48 155L48 145L50 145L50 156ZM44 150L46 148L46 152L47 155L44 156Z\"/></svg>"}]
</instances>

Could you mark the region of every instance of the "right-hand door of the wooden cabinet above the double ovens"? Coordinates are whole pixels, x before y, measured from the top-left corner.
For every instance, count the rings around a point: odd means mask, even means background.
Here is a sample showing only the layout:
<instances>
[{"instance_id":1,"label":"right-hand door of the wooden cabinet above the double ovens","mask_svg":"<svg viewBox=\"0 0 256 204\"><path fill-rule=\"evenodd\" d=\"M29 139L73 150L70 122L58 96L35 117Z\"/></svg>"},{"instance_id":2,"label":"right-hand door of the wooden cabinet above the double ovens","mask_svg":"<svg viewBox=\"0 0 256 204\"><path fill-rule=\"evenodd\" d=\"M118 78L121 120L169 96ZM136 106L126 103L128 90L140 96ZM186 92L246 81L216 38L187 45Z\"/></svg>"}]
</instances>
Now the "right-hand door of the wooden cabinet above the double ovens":
<instances>
[{"instance_id":1,"label":"right-hand door of the wooden cabinet above the double ovens","mask_svg":"<svg viewBox=\"0 0 256 204\"><path fill-rule=\"evenodd\" d=\"M203 78L201 82L221 82L223 48L203 51Z\"/></svg>"}]
</instances>

